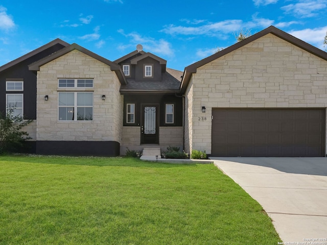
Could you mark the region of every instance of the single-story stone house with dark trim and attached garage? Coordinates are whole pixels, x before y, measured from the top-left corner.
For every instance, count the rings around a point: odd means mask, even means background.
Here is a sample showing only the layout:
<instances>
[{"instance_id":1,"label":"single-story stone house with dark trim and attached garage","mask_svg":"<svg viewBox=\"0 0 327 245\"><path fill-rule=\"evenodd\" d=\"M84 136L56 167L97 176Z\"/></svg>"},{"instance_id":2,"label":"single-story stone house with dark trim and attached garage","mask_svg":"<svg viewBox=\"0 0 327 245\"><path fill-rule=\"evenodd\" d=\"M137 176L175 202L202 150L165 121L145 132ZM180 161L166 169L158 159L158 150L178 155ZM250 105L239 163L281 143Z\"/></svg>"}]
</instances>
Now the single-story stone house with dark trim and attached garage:
<instances>
[{"instance_id":1,"label":"single-story stone house with dark trim and attached garage","mask_svg":"<svg viewBox=\"0 0 327 245\"><path fill-rule=\"evenodd\" d=\"M109 61L56 39L0 67L0 98L34 119L37 154L326 153L327 53L272 26L183 72L139 45Z\"/></svg>"}]
</instances>

